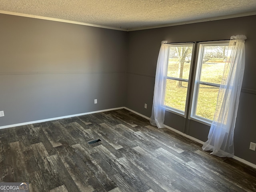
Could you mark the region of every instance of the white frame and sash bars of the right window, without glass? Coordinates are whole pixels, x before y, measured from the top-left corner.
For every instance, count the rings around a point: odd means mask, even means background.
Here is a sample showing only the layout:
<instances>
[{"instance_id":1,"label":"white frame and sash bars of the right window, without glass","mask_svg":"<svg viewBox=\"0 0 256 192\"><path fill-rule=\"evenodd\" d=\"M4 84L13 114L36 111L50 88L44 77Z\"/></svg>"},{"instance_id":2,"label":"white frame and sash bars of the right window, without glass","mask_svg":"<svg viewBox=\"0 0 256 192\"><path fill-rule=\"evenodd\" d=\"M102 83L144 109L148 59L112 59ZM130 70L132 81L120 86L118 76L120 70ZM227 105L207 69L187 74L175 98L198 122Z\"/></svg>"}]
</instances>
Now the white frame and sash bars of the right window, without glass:
<instances>
[{"instance_id":1,"label":"white frame and sash bars of the right window, without glass","mask_svg":"<svg viewBox=\"0 0 256 192\"><path fill-rule=\"evenodd\" d=\"M211 125L212 120L203 118L196 115L196 105L197 105L197 99L198 99L198 92L199 92L199 86L201 85L207 85L207 86L215 86L220 87L220 84L214 84L209 82L201 82L200 81L200 75L201 75L201 68L202 68L202 60L203 60L203 54L204 54L204 46L214 46L214 45L220 45L225 44L228 46L229 41L209 41L209 42L199 42L197 51L196 51L196 58L195 58L195 66L194 66L194 80L193 80L193 86L192 86L192 92L191 92L191 100L190 100L190 107L189 107L189 116L188 119L192 119L194 121Z\"/></svg>"}]
</instances>

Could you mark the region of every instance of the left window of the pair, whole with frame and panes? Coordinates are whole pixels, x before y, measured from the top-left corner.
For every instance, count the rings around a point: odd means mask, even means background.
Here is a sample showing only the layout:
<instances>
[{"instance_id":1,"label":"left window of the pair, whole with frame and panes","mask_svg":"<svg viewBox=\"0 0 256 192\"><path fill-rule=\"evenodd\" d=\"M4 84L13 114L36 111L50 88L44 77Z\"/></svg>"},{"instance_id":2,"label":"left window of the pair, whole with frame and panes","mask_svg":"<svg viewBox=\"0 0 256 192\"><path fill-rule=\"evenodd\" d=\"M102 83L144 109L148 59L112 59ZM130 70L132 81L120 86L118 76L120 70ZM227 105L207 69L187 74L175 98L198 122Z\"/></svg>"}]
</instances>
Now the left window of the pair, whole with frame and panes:
<instances>
[{"instance_id":1,"label":"left window of the pair, whole with frame and panes","mask_svg":"<svg viewBox=\"0 0 256 192\"><path fill-rule=\"evenodd\" d=\"M194 44L170 44L166 79L166 108L185 114L188 98L191 58Z\"/></svg>"}]
</instances>

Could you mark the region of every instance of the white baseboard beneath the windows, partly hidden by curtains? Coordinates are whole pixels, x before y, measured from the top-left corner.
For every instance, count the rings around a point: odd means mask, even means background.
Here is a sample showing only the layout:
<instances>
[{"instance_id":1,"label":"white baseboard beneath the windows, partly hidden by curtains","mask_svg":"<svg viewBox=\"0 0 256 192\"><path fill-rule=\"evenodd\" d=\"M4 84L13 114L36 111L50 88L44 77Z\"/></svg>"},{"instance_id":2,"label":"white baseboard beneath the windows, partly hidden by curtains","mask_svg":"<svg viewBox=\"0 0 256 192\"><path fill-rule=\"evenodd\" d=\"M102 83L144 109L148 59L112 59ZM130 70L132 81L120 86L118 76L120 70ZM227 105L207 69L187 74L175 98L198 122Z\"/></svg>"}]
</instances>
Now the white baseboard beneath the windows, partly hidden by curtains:
<instances>
[{"instance_id":1,"label":"white baseboard beneath the windows, partly hidden by curtains","mask_svg":"<svg viewBox=\"0 0 256 192\"><path fill-rule=\"evenodd\" d=\"M142 116L142 117L144 117L144 118L146 118L146 119L149 120L149 117L144 116L144 115L142 115L142 114L140 114L140 113L138 113L138 112L135 112L134 110L131 110L131 109L126 108L126 107L125 107L125 109L126 109L126 110L129 110L129 111L131 111L131 112L134 112L135 114L137 114L137 115L139 115L139 116ZM182 132L180 132L180 131L178 131L178 130L172 128L172 127L169 127L169 126L167 126L167 125L164 125L164 126L165 126L166 128L168 128L168 129L170 129L170 130L172 130L172 131L174 131L174 132L176 132L176 133L178 133L178 134L180 134L180 135L186 137L186 138L189 138L189 139L191 139L191 140L193 140L193 141L195 141L195 142L198 142L198 143L200 143L200 144L202 144L202 145L204 144L203 141L201 141L201 140L199 140L199 139L197 139L197 138L194 138L194 137L189 136L189 135L187 135L187 134L185 134L185 133L182 133ZM242 162L242 163L244 163L244 164L246 164L246 165L248 165L248 166L251 166L251 167L253 167L253 168L256 168L256 164L253 164L253 163L251 163L251 162L248 162L248 161L246 161L246 160L244 160L244 159L242 159L242 158L240 158L240 157L234 156L233 159L235 159L235 160L237 160L237 161L239 161L239 162Z\"/></svg>"}]
</instances>

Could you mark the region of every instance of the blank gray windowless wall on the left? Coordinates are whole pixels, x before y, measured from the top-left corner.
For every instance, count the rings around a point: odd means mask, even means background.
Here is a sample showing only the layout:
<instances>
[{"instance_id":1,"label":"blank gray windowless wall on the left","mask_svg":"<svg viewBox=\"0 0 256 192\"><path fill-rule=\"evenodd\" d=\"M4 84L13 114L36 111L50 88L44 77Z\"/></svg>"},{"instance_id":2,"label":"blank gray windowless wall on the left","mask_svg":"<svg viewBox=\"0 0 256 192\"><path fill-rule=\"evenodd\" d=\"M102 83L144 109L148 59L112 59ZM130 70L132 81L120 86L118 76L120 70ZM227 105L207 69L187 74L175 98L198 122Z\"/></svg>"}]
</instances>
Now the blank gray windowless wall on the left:
<instances>
[{"instance_id":1,"label":"blank gray windowless wall on the left","mask_svg":"<svg viewBox=\"0 0 256 192\"><path fill-rule=\"evenodd\" d=\"M124 106L127 32L5 14L0 26L0 126Z\"/></svg>"}]
</instances>

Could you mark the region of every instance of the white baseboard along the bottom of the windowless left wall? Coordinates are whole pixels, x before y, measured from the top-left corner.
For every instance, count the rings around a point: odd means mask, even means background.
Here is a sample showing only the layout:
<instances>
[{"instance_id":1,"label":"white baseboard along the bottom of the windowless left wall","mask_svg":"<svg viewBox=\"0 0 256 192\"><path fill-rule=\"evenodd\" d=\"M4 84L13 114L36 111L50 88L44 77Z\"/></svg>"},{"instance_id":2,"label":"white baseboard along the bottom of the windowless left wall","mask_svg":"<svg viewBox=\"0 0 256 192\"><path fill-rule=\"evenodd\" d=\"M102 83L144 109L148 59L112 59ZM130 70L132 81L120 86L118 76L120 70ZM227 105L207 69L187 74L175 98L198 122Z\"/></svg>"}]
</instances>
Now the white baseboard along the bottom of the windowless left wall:
<instances>
[{"instance_id":1,"label":"white baseboard along the bottom of the windowless left wall","mask_svg":"<svg viewBox=\"0 0 256 192\"><path fill-rule=\"evenodd\" d=\"M41 123L41 122L46 122L46 121L53 121L53 120L76 117L76 116L81 116L81 115L88 115L88 114L93 114L93 113L100 113L100 112L105 112L105 111L118 110L118 109L123 109L123 108L124 107L110 108L110 109L104 109L104 110L99 110L99 111L92 111L92 112L79 113L79 114L73 114L73 115L67 115L67 116L61 116L61 117L55 117L55 118L49 118L49 119L42 119L42 120L36 120L36 121L30 121L30 122L24 122L24 123L12 124L12 125L5 125L5 126L0 126L0 129L17 127L17 126L22 126L22 125L29 125L29 124L33 124L33 123Z\"/></svg>"}]
</instances>

